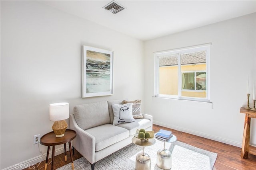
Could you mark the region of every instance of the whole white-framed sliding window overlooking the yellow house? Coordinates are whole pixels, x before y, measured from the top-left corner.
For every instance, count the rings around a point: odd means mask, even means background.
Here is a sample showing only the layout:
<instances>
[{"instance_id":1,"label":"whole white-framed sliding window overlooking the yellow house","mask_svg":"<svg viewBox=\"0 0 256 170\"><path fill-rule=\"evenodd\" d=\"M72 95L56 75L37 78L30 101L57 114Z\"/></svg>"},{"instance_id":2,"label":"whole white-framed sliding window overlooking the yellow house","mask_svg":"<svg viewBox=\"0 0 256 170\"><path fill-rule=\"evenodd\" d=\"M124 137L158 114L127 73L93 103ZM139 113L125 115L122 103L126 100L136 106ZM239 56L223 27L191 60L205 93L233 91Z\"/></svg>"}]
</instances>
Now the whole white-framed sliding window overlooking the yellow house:
<instances>
[{"instance_id":1,"label":"whole white-framed sliding window overlooking the yellow house","mask_svg":"<svg viewBox=\"0 0 256 170\"><path fill-rule=\"evenodd\" d=\"M154 53L155 96L210 100L210 44Z\"/></svg>"}]
</instances>

